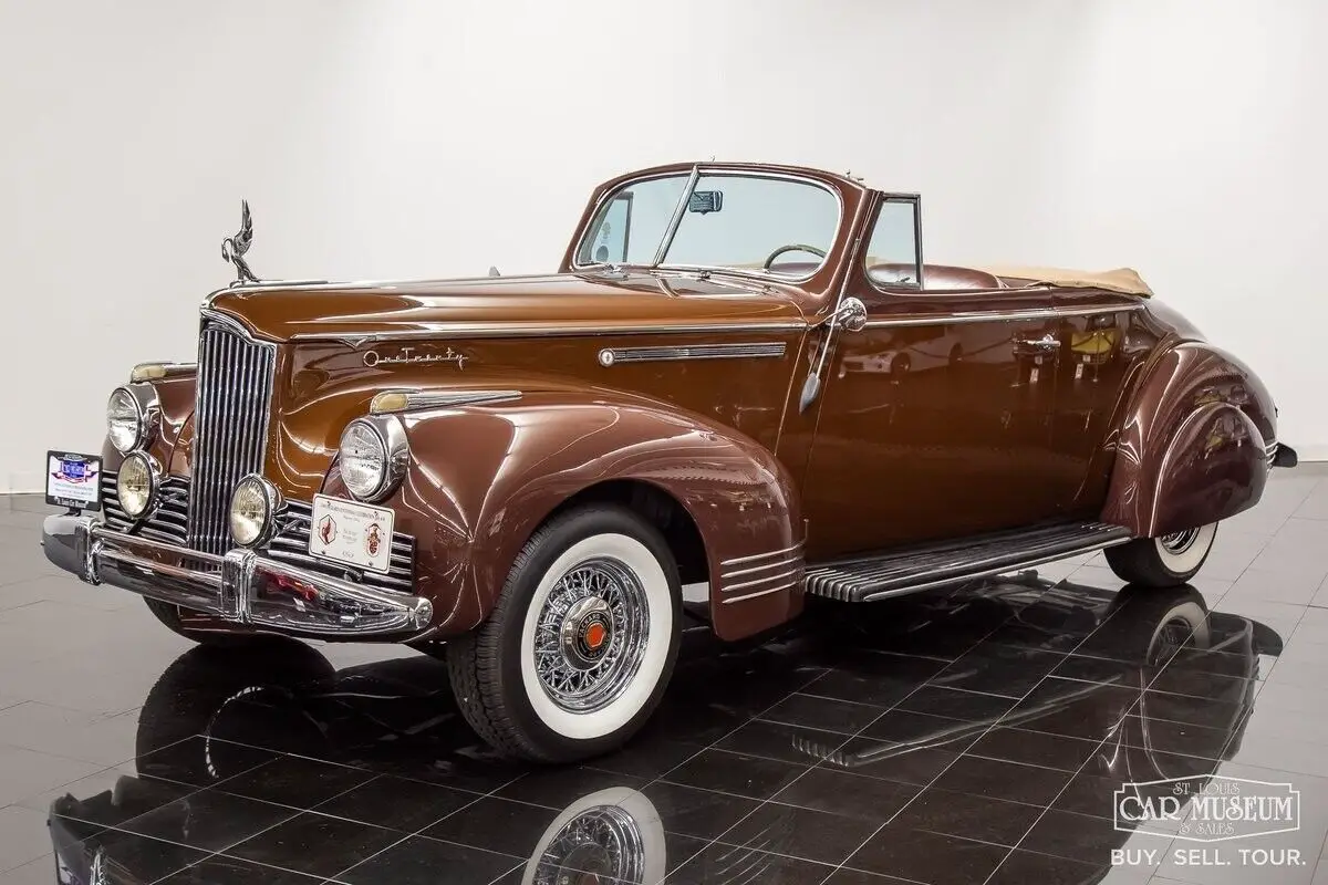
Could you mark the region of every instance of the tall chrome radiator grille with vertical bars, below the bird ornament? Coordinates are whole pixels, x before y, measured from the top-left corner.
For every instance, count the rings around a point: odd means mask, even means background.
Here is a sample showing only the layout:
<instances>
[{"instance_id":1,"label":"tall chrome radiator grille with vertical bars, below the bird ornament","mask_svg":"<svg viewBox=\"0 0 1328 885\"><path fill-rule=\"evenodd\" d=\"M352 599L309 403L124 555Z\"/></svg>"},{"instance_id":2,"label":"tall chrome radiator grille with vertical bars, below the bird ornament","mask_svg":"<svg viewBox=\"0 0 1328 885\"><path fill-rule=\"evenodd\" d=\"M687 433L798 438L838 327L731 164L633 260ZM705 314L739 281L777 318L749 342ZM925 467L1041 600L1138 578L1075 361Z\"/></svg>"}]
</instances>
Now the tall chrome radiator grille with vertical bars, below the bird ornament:
<instances>
[{"instance_id":1,"label":"tall chrome radiator grille with vertical bars, below the bird ornament","mask_svg":"<svg viewBox=\"0 0 1328 885\"><path fill-rule=\"evenodd\" d=\"M227 511L235 483L263 470L276 349L206 320L198 337L189 545L230 548Z\"/></svg>"}]
</instances>

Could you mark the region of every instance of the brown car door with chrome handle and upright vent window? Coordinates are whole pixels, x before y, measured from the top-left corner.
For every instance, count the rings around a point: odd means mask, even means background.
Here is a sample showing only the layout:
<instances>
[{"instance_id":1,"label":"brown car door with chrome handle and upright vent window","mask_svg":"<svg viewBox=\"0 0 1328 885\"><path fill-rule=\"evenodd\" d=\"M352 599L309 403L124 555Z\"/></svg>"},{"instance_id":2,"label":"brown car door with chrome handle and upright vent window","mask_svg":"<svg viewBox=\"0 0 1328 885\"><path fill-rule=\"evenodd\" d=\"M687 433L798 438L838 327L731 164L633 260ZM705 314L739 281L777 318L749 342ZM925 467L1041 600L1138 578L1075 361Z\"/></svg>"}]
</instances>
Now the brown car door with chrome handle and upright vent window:
<instances>
[{"instance_id":1,"label":"brown car door with chrome handle and upright vent window","mask_svg":"<svg viewBox=\"0 0 1328 885\"><path fill-rule=\"evenodd\" d=\"M957 268L919 287L916 198L879 211L845 291L866 322L830 337L803 483L813 560L1057 515L1049 291Z\"/></svg>"}]
</instances>

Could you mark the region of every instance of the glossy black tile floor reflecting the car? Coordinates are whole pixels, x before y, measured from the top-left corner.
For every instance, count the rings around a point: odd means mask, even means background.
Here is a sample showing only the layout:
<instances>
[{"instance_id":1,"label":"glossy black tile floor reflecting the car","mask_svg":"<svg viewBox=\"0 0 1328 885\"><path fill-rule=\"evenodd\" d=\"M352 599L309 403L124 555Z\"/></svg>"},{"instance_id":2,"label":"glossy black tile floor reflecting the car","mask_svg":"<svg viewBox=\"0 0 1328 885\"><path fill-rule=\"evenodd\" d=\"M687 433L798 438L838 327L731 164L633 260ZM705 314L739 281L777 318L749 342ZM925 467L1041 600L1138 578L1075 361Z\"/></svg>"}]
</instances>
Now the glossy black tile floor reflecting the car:
<instances>
[{"instance_id":1,"label":"glossy black tile floor reflecting the car","mask_svg":"<svg viewBox=\"0 0 1328 885\"><path fill-rule=\"evenodd\" d=\"M45 511L0 498L0 882L1328 882L1321 467L1194 586L1081 557L689 637L631 746L554 768L487 752L412 651L190 646L49 568ZM1215 776L1289 784L1296 829L1113 823L1125 784Z\"/></svg>"}]
</instances>

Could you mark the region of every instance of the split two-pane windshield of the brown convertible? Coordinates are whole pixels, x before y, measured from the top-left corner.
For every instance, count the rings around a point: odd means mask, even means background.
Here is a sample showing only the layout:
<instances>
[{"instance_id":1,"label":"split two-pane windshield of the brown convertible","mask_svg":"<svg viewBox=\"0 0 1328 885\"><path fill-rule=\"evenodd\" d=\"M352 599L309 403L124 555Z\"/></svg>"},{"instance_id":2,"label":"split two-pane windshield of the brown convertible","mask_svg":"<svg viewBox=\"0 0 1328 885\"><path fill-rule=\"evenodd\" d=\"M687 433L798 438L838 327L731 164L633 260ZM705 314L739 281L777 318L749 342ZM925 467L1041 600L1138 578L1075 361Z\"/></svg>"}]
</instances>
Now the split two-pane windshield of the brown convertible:
<instances>
[{"instance_id":1,"label":"split two-pane windshield of the brown convertible","mask_svg":"<svg viewBox=\"0 0 1328 885\"><path fill-rule=\"evenodd\" d=\"M691 186L689 186L691 184ZM807 277L839 226L825 186L740 172L631 182L604 200L576 264L701 267Z\"/></svg>"}]
</instances>

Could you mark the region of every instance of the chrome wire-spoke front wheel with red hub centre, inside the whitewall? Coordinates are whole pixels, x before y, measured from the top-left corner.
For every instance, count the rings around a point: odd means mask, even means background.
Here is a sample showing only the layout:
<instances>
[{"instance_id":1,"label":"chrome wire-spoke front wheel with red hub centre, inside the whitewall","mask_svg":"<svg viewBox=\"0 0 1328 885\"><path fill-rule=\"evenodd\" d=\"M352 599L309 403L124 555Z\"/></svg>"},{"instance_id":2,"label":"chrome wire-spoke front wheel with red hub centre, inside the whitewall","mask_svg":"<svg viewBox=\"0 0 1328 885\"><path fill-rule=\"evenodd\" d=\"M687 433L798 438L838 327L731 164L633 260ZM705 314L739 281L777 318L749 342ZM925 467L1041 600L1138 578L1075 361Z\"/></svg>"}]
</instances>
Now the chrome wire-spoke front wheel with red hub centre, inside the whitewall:
<instances>
[{"instance_id":1,"label":"chrome wire-spoke front wheel with red hub centre, inside the whitewall","mask_svg":"<svg viewBox=\"0 0 1328 885\"><path fill-rule=\"evenodd\" d=\"M636 575L611 559L574 565L535 626L535 671L563 710L594 713L623 694L645 651L649 605Z\"/></svg>"}]
</instances>

